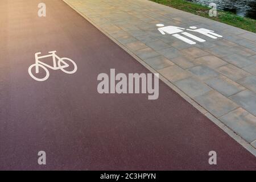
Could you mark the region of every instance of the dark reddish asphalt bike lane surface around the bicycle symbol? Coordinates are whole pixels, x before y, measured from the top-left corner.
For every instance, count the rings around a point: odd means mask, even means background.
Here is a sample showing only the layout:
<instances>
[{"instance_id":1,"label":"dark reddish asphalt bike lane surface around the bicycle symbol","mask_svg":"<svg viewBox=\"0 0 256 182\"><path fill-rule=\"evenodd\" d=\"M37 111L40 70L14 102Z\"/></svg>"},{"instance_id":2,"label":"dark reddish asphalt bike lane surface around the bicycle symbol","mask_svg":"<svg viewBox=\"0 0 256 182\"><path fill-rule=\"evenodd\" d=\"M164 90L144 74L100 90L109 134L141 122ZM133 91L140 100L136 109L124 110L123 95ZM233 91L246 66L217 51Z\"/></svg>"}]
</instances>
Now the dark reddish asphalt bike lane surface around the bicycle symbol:
<instances>
[{"instance_id":1,"label":"dark reddish asphalt bike lane surface around the bicycle symbol","mask_svg":"<svg viewBox=\"0 0 256 182\"><path fill-rule=\"evenodd\" d=\"M98 94L97 76L110 68L149 71L63 1L44 1L46 18L39 2L0 3L0 169L256 169L253 155L163 82L158 100ZM55 50L77 72L49 69L47 81L33 80L34 54Z\"/></svg>"}]
</instances>

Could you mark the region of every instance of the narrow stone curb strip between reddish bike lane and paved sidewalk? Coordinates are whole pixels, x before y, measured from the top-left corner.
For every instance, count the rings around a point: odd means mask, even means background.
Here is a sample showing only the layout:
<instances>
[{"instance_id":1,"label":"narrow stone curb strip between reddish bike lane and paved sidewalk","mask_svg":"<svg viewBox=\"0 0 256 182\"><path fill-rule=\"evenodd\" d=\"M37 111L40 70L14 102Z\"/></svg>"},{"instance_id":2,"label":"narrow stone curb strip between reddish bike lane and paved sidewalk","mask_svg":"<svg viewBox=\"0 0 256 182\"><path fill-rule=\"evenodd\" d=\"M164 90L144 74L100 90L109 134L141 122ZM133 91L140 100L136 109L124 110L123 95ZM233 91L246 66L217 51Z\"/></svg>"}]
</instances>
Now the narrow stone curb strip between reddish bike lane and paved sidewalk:
<instances>
[{"instance_id":1,"label":"narrow stone curb strip between reddish bike lane and paved sidewalk","mask_svg":"<svg viewBox=\"0 0 256 182\"><path fill-rule=\"evenodd\" d=\"M135 60L137 60L139 63L141 63L145 68L147 68L152 73L158 73L155 71L154 68L151 68L148 64L146 64L142 59L140 59L138 56L136 56L133 52L131 52L129 49L127 49L123 44L119 43L118 40L113 38L111 35L108 34L105 30L103 30L101 27L97 26L96 23L94 23L90 18L88 18L86 15L82 14L79 10L76 10L75 7L73 7L69 2L66 0L63 0L65 3L67 3L68 6L70 6L73 10L75 10L78 14L80 14L82 17L84 17L88 22L93 24L94 27L96 27L98 30L100 30L103 34L108 36L109 39L111 39L114 43L116 43L119 47L121 47L123 50L125 50L129 55L131 55ZM189 104L191 104L193 107L195 107L197 110L200 111L200 113L204 114L205 117L210 119L213 123L215 123L220 129L222 129L226 134L228 134L230 137L232 137L234 140L236 140L237 143L241 144L243 148L245 148L247 151L249 151L251 154L256 156L256 150L253 146L251 146L250 143L246 142L240 135L236 134L232 129L230 129L228 126L224 125L219 119L214 117L212 114L210 114L207 110L205 110L203 107L201 107L199 104L197 104L195 101L193 101L187 94L182 92L179 88L177 88L174 84L172 84L170 81L168 81L166 78L164 78L162 75L159 74L159 79L162 80L166 85L168 85L172 90L174 90L176 93L178 93L184 100L186 100Z\"/></svg>"}]
</instances>

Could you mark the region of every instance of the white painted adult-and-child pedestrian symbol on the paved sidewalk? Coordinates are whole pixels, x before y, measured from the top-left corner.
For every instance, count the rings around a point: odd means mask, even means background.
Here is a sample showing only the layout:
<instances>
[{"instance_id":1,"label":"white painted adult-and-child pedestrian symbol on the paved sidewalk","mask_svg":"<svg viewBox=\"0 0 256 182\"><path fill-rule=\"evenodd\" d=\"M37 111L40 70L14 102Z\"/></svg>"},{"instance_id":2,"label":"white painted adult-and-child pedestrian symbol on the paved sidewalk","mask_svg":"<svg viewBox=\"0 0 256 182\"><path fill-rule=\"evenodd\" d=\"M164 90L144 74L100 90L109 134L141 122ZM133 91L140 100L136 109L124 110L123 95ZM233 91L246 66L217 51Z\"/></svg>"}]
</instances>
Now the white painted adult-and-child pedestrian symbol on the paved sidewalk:
<instances>
[{"instance_id":1,"label":"white painted adult-and-child pedestrian symbol on the paved sidewalk","mask_svg":"<svg viewBox=\"0 0 256 182\"><path fill-rule=\"evenodd\" d=\"M197 42L205 42L205 40L199 38L198 36L189 34L188 32L185 32L185 30L193 31L193 32L199 32L200 34L208 36L212 39L217 39L217 37L219 37L219 38L222 37L221 35L215 34L214 31L212 31L212 30L208 30L208 29L205 29L205 28L196 29L197 27L194 27L194 26L189 27L191 29L185 29L185 28L176 27L176 26L166 26L166 27L164 27L164 24L156 24L156 26L160 27L160 28L158 28L158 31L162 35L166 35L166 34L172 35L175 38L180 39L183 42L191 44L191 45L196 44L196 42L193 41L193 40L196 40ZM180 35L179 33L182 34L182 35ZM186 38L185 36L187 36L190 39ZM191 39L193 39L193 40L191 40Z\"/></svg>"}]
</instances>

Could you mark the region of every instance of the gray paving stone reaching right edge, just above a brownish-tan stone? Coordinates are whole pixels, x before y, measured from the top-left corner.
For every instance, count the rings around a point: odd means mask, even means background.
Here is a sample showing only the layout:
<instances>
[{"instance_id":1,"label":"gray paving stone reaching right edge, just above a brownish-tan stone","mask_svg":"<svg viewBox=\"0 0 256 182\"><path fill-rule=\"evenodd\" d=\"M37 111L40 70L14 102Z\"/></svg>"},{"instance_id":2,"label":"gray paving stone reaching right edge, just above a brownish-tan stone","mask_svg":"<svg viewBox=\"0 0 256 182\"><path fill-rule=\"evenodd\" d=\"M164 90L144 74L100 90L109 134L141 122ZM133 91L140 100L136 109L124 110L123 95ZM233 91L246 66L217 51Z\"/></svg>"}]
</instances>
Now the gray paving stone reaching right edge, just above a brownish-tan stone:
<instances>
[{"instance_id":1,"label":"gray paving stone reaching right edge, just above a brownish-tan stone","mask_svg":"<svg viewBox=\"0 0 256 182\"><path fill-rule=\"evenodd\" d=\"M222 57L222 59L224 59L228 63L236 65L238 68L244 68L244 67L247 67L248 65L255 63L253 60L250 60L247 57L236 55L236 54Z\"/></svg>"}]
</instances>

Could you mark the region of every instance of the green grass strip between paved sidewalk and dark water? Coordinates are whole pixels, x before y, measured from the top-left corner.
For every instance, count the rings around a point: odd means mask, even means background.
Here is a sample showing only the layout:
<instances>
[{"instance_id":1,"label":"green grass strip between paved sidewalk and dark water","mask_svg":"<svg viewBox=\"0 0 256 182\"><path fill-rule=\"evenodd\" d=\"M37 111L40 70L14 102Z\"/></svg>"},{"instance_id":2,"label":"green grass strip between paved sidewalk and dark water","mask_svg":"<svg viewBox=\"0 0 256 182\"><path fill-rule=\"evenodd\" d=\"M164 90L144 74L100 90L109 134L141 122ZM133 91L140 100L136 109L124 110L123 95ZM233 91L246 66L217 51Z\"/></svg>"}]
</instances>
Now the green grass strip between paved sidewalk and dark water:
<instances>
[{"instance_id":1,"label":"green grass strip between paved sidewalk and dark water","mask_svg":"<svg viewBox=\"0 0 256 182\"><path fill-rule=\"evenodd\" d=\"M230 26L242 28L250 32L256 33L256 20L238 16L229 11L217 10L216 17L209 16L210 8L207 6L199 5L196 3L188 2L185 0L150 0L161 5L174 7L175 9L186 11L195 15L203 16L204 18L212 19L217 22L226 23Z\"/></svg>"}]
</instances>

